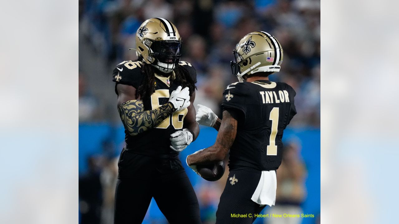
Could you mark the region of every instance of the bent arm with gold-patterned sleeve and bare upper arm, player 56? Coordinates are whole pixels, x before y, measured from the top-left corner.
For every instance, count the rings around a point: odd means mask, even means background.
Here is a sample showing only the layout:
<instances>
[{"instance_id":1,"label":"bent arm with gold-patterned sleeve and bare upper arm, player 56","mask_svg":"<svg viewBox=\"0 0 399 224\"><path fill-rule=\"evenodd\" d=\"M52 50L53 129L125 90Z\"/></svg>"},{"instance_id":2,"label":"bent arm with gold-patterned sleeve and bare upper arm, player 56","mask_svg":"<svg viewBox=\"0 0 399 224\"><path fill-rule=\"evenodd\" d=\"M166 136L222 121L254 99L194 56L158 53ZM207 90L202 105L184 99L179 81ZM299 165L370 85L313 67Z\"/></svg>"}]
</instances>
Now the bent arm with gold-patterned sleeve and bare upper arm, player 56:
<instances>
[{"instance_id":1,"label":"bent arm with gold-patterned sleeve and bare upper arm, player 56","mask_svg":"<svg viewBox=\"0 0 399 224\"><path fill-rule=\"evenodd\" d=\"M131 136L158 126L176 110L171 102L155 110L144 110L143 101L136 99L136 88L118 84L117 90L119 116L124 128Z\"/></svg>"}]
</instances>

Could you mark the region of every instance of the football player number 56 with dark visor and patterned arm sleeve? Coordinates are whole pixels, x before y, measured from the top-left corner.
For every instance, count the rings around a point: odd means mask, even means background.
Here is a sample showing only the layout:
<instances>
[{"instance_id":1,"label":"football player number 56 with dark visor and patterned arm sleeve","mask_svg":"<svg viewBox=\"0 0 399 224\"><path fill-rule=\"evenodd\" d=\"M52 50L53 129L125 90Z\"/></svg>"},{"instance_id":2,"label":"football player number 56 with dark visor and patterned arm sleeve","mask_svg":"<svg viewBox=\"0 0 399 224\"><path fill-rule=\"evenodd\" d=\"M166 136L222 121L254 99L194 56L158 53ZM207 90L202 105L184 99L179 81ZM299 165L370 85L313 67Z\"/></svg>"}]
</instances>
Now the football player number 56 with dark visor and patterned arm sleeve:
<instances>
[{"instance_id":1,"label":"football player number 56 with dark visor and patterned arm sleeve","mask_svg":"<svg viewBox=\"0 0 399 224\"><path fill-rule=\"evenodd\" d=\"M115 193L115 224L141 223L152 198L171 224L201 223L194 189L178 159L199 134L196 71L180 61L182 40L163 18L136 33L137 61L113 71L125 128Z\"/></svg>"}]
</instances>

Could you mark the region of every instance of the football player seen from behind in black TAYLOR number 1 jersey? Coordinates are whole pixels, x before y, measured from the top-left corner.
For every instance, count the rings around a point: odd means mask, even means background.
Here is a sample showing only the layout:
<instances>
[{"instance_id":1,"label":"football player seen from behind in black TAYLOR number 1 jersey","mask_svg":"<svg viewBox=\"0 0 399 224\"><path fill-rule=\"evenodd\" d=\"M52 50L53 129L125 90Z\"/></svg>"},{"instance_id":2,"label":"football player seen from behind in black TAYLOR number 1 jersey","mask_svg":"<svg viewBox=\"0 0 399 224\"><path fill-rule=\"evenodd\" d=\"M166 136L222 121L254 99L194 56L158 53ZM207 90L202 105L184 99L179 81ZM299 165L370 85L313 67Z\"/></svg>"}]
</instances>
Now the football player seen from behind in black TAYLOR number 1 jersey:
<instances>
[{"instance_id":1,"label":"football player seen from behind in black TAYLOR number 1 jersey","mask_svg":"<svg viewBox=\"0 0 399 224\"><path fill-rule=\"evenodd\" d=\"M216 142L186 159L196 171L196 165L221 161L230 150L230 173L217 208L217 224L252 223L266 204L275 204L281 138L296 114L292 87L268 78L280 71L282 63L283 51L275 37L263 31L249 33L233 53L231 67L239 82L223 91L223 120L198 105L197 121L219 131Z\"/></svg>"}]
</instances>

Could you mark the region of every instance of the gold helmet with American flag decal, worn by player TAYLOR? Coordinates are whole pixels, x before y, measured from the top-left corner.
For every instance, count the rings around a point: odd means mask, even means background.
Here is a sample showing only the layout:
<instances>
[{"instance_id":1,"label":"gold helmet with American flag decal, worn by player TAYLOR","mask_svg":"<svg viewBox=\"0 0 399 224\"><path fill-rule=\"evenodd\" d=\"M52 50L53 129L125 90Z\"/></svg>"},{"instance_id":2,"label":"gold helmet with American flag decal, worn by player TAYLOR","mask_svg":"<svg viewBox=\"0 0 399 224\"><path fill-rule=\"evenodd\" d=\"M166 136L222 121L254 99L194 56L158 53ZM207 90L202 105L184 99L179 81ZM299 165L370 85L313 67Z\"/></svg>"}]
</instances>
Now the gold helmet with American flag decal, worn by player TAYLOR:
<instances>
[{"instance_id":1,"label":"gold helmet with American flag decal, worn by player TAYLOR","mask_svg":"<svg viewBox=\"0 0 399 224\"><path fill-rule=\"evenodd\" d=\"M243 76L257 72L278 72L282 63L282 47L273 35L255 31L239 41L231 61L233 75L243 82Z\"/></svg>"}]
</instances>

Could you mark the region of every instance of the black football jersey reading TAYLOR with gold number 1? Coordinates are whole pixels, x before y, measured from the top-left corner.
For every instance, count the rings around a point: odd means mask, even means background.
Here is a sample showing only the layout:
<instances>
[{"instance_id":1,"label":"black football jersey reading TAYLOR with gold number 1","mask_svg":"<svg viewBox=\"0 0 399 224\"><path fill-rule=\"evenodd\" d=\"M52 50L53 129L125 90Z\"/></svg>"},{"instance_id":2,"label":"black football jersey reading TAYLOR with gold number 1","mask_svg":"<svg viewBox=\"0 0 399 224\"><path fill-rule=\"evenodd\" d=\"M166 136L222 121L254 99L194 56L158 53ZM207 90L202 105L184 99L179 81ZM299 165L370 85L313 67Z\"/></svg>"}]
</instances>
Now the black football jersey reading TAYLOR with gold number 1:
<instances>
[{"instance_id":1,"label":"black football jersey reading TAYLOR with gold number 1","mask_svg":"<svg viewBox=\"0 0 399 224\"><path fill-rule=\"evenodd\" d=\"M223 91L223 110L239 113L230 149L231 170L276 170L282 158L282 134L296 114L294 89L265 80L233 83ZM233 108L233 109L232 109Z\"/></svg>"}]
</instances>

